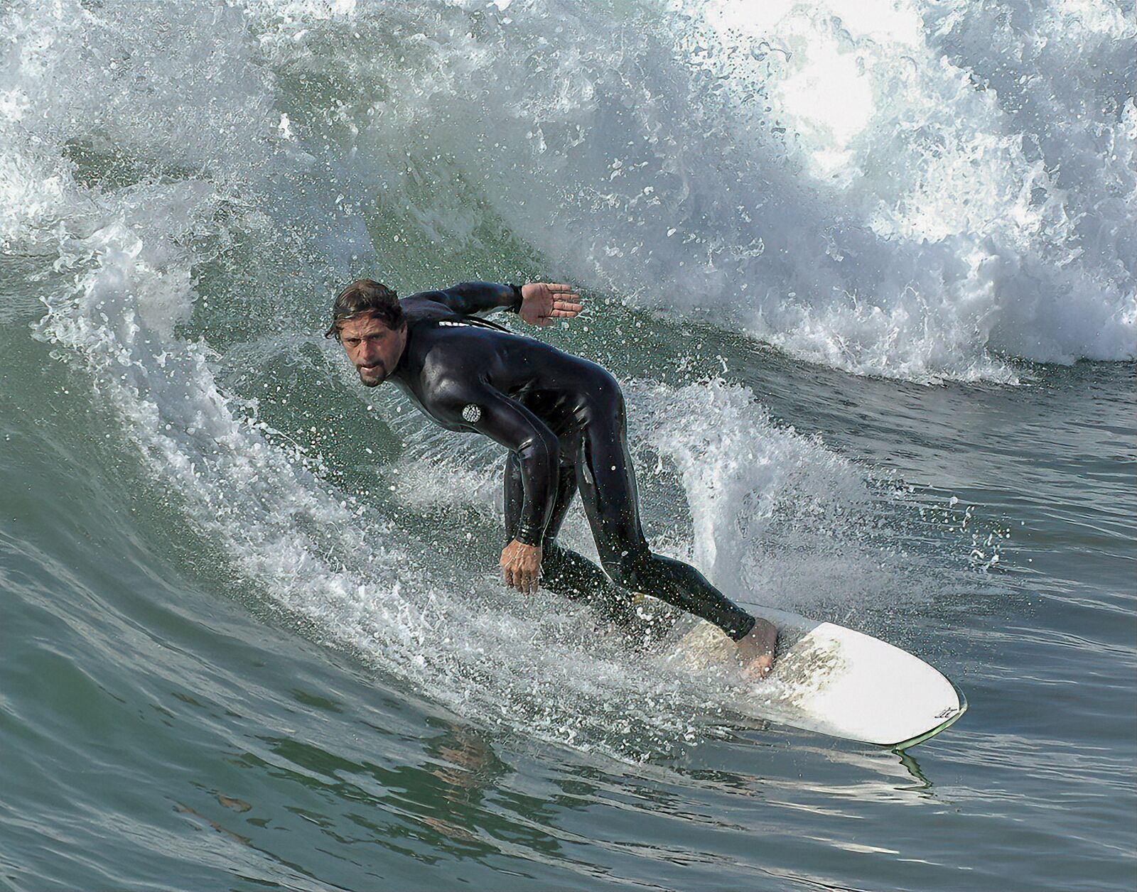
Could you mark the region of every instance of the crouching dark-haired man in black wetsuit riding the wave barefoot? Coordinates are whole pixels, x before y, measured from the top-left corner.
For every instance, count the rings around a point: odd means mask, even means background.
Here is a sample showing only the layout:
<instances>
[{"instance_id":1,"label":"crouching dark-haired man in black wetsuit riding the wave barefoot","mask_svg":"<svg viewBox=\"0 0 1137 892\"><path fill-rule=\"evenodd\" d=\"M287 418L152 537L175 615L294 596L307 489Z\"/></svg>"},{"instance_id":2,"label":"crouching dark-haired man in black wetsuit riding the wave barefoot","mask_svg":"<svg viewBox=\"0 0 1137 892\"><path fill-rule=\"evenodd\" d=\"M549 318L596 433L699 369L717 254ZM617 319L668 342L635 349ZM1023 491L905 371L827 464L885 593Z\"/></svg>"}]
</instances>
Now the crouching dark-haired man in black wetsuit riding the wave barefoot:
<instances>
[{"instance_id":1,"label":"crouching dark-haired man in black wetsuit riding the wave barefoot","mask_svg":"<svg viewBox=\"0 0 1137 892\"><path fill-rule=\"evenodd\" d=\"M697 569L654 555L640 528L636 477L616 380L587 359L513 334L476 312L505 308L543 326L581 311L568 285L464 282L401 301L372 280L343 289L326 336L343 344L368 387L391 381L450 431L475 431L509 450L505 466L505 582L525 593L646 592L717 625L747 670L773 665L774 627L732 603ZM580 490L600 564L557 543Z\"/></svg>"}]
</instances>

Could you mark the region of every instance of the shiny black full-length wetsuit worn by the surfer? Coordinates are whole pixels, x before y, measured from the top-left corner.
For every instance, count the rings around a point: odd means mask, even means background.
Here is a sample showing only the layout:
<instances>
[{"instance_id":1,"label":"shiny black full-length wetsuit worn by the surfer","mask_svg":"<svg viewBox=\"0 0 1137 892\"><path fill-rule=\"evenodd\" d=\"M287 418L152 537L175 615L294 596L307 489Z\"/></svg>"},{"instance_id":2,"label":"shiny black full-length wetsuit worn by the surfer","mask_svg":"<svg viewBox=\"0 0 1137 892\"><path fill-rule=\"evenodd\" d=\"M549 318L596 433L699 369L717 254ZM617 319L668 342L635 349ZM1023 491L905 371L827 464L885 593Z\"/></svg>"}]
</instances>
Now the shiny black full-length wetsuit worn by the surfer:
<instances>
[{"instance_id":1,"label":"shiny black full-length wetsuit worn by the surfer","mask_svg":"<svg viewBox=\"0 0 1137 892\"><path fill-rule=\"evenodd\" d=\"M612 581L708 619L732 639L746 635L749 614L694 567L648 548L616 380L596 362L473 317L520 302L516 286L487 282L405 298L407 343L390 381L442 427L475 431L509 450L506 534L541 547L549 591L586 600L613 591L599 567L556 542L579 489Z\"/></svg>"}]
</instances>

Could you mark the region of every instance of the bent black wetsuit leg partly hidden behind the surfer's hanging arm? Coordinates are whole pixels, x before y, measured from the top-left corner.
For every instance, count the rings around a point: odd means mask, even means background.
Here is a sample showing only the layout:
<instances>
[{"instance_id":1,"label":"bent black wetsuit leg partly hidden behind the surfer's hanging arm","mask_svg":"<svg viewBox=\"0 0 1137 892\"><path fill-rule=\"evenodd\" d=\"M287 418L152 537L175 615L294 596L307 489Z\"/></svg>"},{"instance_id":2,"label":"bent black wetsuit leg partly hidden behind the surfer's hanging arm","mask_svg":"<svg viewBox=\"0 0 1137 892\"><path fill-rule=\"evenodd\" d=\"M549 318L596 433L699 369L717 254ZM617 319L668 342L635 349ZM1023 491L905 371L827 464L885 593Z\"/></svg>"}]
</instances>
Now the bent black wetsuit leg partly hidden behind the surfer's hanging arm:
<instances>
[{"instance_id":1,"label":"bent black wetsuit leg partly hidden behind the surfer's hanging arm","mask_svg":"<svg viewBox=\"0 0 1137 892\"><path fill-rule=\"evenodd\" d=\"M562 465L557 477L557 498L553 516L541 543L541 585L554 594L573 601L583 601L604 619L630 628L637 625L636 608L631 597L615 586L612 580L583 555L559 545L556 541L568 506L576 494L576 468ZM512 541L521 523L524 489L521 462L513 452L505 462L505 530L506 541Z\"/></svg>"}]
</instances>

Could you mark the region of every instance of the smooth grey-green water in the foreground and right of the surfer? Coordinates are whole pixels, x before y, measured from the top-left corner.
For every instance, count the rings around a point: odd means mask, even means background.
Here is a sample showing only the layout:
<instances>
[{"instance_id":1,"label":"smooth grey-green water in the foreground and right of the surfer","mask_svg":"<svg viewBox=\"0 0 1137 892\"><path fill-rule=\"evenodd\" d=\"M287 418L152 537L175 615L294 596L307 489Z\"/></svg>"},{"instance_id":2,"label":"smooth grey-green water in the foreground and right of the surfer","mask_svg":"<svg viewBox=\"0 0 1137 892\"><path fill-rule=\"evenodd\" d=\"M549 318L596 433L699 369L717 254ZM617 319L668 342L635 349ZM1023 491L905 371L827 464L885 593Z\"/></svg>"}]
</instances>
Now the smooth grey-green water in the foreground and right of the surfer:
<instances>
[{"instance_id":1,"label":"smooth grey-green water in the foreground and right of the surfer","mask_svg":"<svg viewBox=\"0 0 1137 892\"><path fill-rule=\"evenodd\" d=\"M715 344L735 359L732 347ZM929 657L971 711L910 757L713 722L638 761L487 726L277 610L180 522L83 373L22 324L5 350L13 887L1121 889L1132 876L1130 367L930 390L738 356L738 380L779 416L1012 528L999 569L970 569L948 525L920 523L920 499L944 503L923 489L897 535L932 578L841 605L816 570L820 615ZM482 551L495 536L479 524Z\"/></svg>"}]
</instances>

